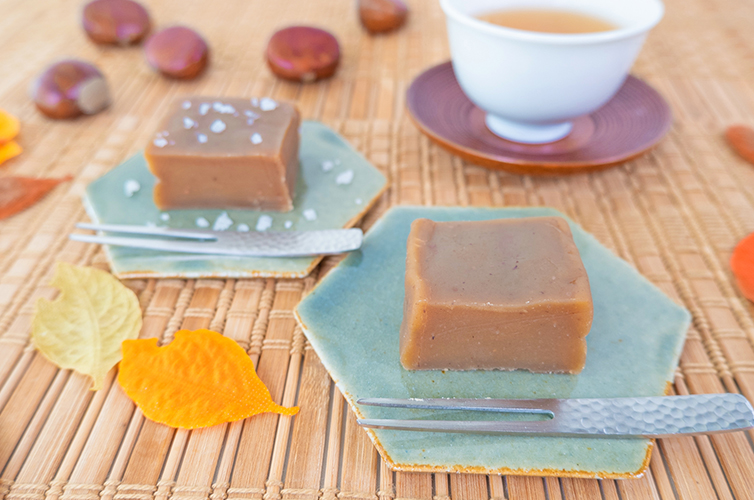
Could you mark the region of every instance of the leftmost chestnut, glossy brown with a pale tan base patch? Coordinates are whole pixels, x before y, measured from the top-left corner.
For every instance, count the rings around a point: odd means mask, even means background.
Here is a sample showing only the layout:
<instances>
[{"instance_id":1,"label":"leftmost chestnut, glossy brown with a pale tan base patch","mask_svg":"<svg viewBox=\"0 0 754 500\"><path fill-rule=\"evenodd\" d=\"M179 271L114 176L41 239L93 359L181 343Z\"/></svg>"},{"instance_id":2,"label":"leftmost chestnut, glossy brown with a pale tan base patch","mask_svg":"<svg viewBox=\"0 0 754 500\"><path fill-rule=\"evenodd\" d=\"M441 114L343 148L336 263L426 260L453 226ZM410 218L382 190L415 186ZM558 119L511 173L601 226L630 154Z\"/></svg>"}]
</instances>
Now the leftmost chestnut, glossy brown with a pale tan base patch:
<instances>
[{"instance_id":1,"label":"leftmost chestnut, glossy brown with a pale tan base patch","mask_svg":"<svg viewBox=\"0 0 754 500\"><path fill-rule=\"evenodd\" d=\"M47 68L32 84L31 97L42 113L56 119L93 115L110 104L104 75L76 59Z\"/></svg>"}]
</instances>

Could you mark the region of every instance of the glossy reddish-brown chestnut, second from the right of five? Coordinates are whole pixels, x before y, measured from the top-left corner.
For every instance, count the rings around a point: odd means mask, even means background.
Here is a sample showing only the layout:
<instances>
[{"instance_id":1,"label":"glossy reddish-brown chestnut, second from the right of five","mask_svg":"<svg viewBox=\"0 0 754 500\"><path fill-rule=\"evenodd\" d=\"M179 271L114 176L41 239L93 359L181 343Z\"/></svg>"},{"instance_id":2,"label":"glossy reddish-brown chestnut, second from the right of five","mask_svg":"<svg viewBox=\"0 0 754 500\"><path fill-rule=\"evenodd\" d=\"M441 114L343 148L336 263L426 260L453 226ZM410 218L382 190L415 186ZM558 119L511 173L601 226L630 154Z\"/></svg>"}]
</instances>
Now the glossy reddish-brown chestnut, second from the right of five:
<instances>
[{"instance_id":1,"label":"glossy reddish-brown chestnut, second from the right of five","mask_svg":"<svg viewBox=\"0 0 754 500\"><path fill-rule=\"evenodd\" d=\"M325 30L291 26L267 43L267 64L280 78L313 82L331 77L340 62L338 40Z\"/></svg>"}]
</instances>

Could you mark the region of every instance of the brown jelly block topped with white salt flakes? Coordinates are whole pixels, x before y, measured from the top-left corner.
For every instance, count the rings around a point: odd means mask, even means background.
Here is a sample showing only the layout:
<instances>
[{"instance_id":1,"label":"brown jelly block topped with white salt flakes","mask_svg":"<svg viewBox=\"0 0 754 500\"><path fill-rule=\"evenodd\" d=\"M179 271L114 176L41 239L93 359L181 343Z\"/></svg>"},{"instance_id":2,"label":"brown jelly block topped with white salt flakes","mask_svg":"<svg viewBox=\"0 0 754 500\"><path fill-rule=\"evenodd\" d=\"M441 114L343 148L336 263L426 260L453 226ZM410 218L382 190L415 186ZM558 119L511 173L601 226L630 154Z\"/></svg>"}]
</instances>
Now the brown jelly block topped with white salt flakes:
<instances>
[{"instance_id":1,"label":"brown jelly block topped with white salt flakes","mask_svg":"<svg viewBox=\"0 0 754 500\"><path fill-rule=\"evenodd\" d=\"M299 113L269 98L178 99L144 152L155 205L293 209Z\"/></svg>"}]
</instances>

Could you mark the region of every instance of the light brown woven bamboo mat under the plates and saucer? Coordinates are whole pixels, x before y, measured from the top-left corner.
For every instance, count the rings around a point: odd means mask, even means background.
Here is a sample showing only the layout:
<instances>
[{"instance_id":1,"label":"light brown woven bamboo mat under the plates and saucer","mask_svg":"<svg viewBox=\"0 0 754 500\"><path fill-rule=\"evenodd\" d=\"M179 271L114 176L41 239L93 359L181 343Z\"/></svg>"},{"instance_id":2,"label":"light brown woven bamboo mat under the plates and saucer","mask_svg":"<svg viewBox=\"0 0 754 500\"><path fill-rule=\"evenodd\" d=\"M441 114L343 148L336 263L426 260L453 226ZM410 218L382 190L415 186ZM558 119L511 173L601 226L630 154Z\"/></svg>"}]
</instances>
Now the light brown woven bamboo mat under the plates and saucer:
<instances>
[{"instance_id":1,"label":"light brown woven bamboo mat under the plates and saucer","mask_svg":"<svg viewBox=\"0 0 754 500\"><path fill-rule=\"evenodd\" d=\"M209 327L237 340L276 401L295 419L260 415L175 431L135 411L110 374L92 393L29 347L29 325L53 264L106 268L98 248L67 240L85 220L84 187L143 147L176 95L271 95L339 130L390 179L364 219L389 206L548 205L568 214L689 308L674 390L741 392L754 400L754 308L733 285L728 257L754 231L754 167L721 132L754 125L754 2L669 0L634 72L671 103L675 125L652 154L568 178L531 178L464 163L423 137L404 111L412 78L448 58L436 0L409 0L408 26L369 37L351 1L147 2L158 25L186 23L209 40L211 71L176 83L149 71L138 48L103 49L79 28L80 0L3 0L0 107L23 123L23 156L0 175L74 180L0 222L0 499L7 500L483 500L754 498L754 434L660 440L642 479L586 480L393 473L355 424L296 327L292 310L336 263L304 280L143 280L127 285L144 310L145 337ZM336 78L276 80L261 54L290 23L332 30L343 48ZM114 94L106 113L42 118L26 88L63 56L94 61Z\"/></svg>"}]
</instances>

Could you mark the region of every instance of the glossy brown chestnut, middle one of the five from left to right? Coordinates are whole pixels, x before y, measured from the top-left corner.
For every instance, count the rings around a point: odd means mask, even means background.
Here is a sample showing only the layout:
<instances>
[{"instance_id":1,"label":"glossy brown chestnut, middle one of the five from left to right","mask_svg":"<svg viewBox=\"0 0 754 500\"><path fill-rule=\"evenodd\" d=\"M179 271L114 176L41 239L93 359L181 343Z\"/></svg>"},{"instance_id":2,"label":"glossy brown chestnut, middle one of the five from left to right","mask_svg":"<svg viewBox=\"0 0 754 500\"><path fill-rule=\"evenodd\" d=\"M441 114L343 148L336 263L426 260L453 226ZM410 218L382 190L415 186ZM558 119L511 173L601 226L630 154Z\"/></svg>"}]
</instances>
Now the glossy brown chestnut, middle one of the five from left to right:
<instances>
[{"instance_id":1,"label":"glossy brown chestnut, middle one of the five from left to right","mask_svg":"<svg viewBox=\"0 0 754 500\"><path fill-rule=\"evenodd\" d=\"M172 26L150 36L144 44L147 62L162 74L196 78L209 62L209 47L191 28Z\"/></svg>"}]
</instances>

